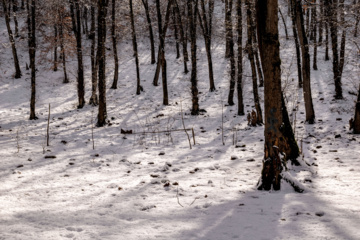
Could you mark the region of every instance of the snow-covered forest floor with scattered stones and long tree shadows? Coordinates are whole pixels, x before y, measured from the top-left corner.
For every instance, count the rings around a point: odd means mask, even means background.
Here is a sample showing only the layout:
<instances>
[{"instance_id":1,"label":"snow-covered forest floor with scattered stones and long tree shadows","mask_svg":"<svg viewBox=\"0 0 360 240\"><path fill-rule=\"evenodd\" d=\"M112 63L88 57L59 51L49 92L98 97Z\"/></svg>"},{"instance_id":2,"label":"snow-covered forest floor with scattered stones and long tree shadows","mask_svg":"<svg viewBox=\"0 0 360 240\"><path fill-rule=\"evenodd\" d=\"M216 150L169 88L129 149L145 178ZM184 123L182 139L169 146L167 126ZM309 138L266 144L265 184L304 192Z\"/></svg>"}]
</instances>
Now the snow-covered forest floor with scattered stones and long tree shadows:
<instances>
[{"instance_id":1,"label":"snow-covered forest floor with scattered stones and long tree shadows","mask_svg":"<svg viewBox=\"0 0 360 240\"><path fill-rule=\"evenodd\" d=\"M6 34L2 29L2 42ZM198 41L200 108L206 112L190 115L190 74L183 74L173 44L167 49L170 105L162 105L161 85L152 85L155 65L146 39L139 50L145 91L136 95L129 41L119 48L119 85L107 90L111 124L103 128L93 127L97 108L76 109L75 60L69 62L69 84L62 83L62 69L53 72L51 63L39 65L39 119L28 120L26 47L19 51L21 79L11 76L11 49L1 49L0 239L359 239L360 136L348 129L359 81L350 63L358 64L358 56L349 52L345 99L334 100L331 61L325 62L319 49L319 70L311 73L316 123L308 125L293 41L282 39L284 91L303 154L302 166L289 164L286 174L305 191L296 193L286 182L281 191L258 191L263 126L249 127L246 116L236 115L236 106L223 106L229 75L221 41L213 44L217 90L209 92L205 48ZM109 88L113 67L108 53ZM244 62L244 101L250 112L252 84L247 58ZM86 66L88 101L88 61ZM260 92L263 96L263 88ZM182 114L186 128L194 129L192 149L185 132L141 134L182 129ZM124 135L121 129L136 134Z\"/></svg>"}]
</instances>

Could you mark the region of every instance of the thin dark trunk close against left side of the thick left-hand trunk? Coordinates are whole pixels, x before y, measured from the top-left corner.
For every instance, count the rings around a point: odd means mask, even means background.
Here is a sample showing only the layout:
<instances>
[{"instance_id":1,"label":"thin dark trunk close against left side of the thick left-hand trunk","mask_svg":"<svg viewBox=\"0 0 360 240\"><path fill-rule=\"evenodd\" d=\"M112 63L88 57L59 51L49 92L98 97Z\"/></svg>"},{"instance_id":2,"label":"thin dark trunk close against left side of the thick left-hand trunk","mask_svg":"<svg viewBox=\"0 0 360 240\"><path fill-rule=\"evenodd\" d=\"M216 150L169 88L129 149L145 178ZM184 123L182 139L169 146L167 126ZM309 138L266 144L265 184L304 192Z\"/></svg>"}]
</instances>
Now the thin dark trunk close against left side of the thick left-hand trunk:
<instances>
[{"instance_id":1,"label":"thin dark trunk close against left side of the thick left-hand trunk","mask_svg":"<svg viewBox=\"0 0 360 240\"><path fill-rule=\"evenodd\" d=\"M96 45L96 33L95 33L95 0L93 0L90 12L91 12L91 26L89 38L91 39L91 97L89 104L97 106L99 104L97 96L97 66L98 61L95 53Z\"/></svg>"}]
</instances>

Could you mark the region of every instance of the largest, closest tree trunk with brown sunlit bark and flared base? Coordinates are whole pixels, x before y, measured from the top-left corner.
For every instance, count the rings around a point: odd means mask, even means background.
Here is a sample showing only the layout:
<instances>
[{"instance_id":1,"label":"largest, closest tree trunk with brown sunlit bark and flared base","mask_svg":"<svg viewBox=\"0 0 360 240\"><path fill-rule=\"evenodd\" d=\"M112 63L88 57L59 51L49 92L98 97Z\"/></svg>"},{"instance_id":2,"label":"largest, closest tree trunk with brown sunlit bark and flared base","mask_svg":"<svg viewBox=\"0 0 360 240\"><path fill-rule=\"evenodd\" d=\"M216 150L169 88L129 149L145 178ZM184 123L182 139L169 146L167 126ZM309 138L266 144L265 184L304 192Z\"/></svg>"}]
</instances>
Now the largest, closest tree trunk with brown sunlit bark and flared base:
<instances>
[{"instance_id":1,"label":"largest, closest tree trunk with brown sunlit bark and flared base","mask_svg":"<svg viewBox=\"0 0 360 240\"><path fill-rule=\"evenodd\" d=\"M256 6L259 49L265 79L265 146L259 190L280 190L284 152L296 162L299 148L288 119L281 92L281 60L278 32L278 1L258 0Z\"/></svg>"}]
</instances>

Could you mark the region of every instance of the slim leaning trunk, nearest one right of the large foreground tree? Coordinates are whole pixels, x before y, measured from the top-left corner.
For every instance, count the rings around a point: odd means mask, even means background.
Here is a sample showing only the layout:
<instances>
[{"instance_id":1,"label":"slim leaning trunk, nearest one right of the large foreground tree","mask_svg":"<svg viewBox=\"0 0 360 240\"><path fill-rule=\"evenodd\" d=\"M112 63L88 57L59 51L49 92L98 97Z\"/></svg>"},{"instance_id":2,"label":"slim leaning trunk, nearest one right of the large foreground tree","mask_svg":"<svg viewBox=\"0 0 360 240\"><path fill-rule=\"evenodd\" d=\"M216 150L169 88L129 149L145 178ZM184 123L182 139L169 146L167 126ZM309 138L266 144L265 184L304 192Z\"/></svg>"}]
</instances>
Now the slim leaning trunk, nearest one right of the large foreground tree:
<instances>
[{"instance_id":1,"label":"slim leaning trunk, nearest one right of the large foreground tree","mask_svg":"<svg viewBox=\"0 0 360 240\"><path fill-rule=\"evenodd\" d=\"M301 0L292 0L295 4L296 25L299 33L299 40L302 54L302 76L303 76L303 93L305 102L306 122L315 123L315 112L311 95L311 77L310 77L310 54L309 42L305 33L304 17L302 12Z\"/></svg>"}]
</instances>

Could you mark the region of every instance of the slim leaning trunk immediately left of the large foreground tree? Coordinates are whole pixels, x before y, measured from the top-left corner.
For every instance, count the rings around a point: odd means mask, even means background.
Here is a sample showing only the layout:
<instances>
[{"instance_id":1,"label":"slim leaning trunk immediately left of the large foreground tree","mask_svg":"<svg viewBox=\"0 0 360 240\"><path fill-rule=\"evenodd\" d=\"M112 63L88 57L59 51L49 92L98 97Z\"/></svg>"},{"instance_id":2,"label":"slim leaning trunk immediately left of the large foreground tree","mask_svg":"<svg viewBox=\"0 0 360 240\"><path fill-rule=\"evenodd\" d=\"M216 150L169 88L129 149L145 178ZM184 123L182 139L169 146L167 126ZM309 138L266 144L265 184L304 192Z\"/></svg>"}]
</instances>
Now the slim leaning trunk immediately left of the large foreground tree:
<instances>
[{"instance_id":1,"label":"slim leaning trunk immediately left of the large foreground tree","mask_svg":"<svg viewBox=\"0 0 360 240\"><path fill-rule=\"evenodd\" d=\"M255 28L253 23L253 13L252 9L253 6L250 3L250 0L245 0L246 4L246 15L247 15L247 51L248 57L251 65L251 74L252 74L252 83L253 83L253 93L254 93L254 104L256 109L256 124L261 125L263 123L262 119L262 110L260 106L260 97L258 93L258 86L257 86L257 75L256 75L256 65L254 59L254 45L253 45L253 36L255 35Z\"/></svg>"}]
</instances>

